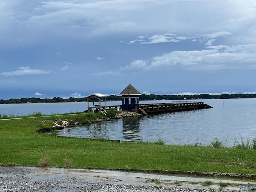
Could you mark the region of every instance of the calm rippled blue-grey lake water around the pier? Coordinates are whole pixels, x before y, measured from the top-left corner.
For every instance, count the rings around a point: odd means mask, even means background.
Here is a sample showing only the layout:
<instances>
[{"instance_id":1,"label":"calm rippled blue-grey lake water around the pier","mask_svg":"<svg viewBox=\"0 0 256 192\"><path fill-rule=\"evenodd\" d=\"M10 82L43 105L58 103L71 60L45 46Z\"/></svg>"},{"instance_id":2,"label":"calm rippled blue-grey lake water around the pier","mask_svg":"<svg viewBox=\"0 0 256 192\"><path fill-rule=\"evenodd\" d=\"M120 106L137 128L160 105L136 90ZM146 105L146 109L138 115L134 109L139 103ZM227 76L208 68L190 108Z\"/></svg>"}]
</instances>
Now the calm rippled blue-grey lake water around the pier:
<instances>
[{"instance_id":1,"label":"calm rippled blue-grey lake water around the pier","mask_svg":"<svg viewBox=\"0 0 256 192\"><path fill-rule=\"evenodd\" d=\"M240 140L242 137L246 140L247 138L256 137L256 99L226 99L224 104L219 99L203 101L213 108L100 122L88 126L58 130L58 134L61 136L109 138L123 141L155 141L160 136L167 144L195 144L199 141L202 145L208 145L213 138L219 138L226 142L228 146L234 144L235 138ZM153 102L162 103L163 101L142 101L140 103ZM120 104L120 102L107 103L107 105L117 104ZM2 114L4 112L1 110L5 105L0 105L0 113ZM15 111L15 105L19 105L17 107L19 107L20 115L26 113L23 108L26 108L26 111L30 110L29 112L36 109L44 114L76 112L87 109L87 103L84 102L11 104L9 111ZM36 107L27 108L27 106L34 107L33 105ZM8 112L5 113L8 114Z\"/></svg>"}]
</instances>

